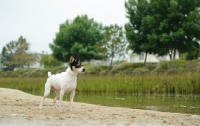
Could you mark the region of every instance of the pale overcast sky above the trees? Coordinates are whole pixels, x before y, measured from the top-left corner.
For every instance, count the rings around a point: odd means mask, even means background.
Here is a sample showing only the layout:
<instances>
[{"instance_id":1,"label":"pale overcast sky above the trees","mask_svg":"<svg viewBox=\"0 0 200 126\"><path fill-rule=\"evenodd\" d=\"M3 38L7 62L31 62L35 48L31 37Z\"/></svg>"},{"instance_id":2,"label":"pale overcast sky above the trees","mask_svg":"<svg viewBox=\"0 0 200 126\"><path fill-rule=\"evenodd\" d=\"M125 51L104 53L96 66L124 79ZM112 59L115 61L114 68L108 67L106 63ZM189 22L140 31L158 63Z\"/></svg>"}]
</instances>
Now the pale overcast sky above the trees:
<instances>
[{"instance_id":1,"label":"pale overcast sky above the trees","mask_svg":"<svg viewBox=\"0 0 200 126\"><path fill-rule=\"evenodd\" d=\"M20 36L30 52L48 53L60 24L86 14L103 25L128 22L125 0L0 0L0 51Z\"/></svg>"}]
</instances>

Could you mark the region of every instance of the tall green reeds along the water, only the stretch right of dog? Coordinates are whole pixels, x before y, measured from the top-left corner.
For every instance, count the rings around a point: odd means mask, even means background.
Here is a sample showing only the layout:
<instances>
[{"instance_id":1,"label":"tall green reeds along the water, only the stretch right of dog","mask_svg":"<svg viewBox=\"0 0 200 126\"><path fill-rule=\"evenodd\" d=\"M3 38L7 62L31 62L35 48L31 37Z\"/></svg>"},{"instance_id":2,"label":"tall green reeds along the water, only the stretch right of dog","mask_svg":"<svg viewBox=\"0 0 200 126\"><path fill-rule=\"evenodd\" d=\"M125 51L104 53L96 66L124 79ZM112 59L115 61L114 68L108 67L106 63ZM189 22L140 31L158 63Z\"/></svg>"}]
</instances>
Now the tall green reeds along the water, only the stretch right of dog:
<instances>
[{"instance_id":1,"label":"tall green reeds along the water, only the stretch right of dog","mask_svg":"<svg viewBox=\"0 0 200 126\"><path fill-rule=\"evenodd\" d=\"M200 94L200 74L81 77L79 92Z\"/></svg>"}]
</instances>

